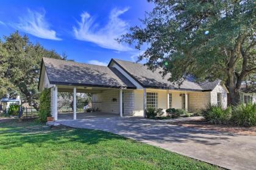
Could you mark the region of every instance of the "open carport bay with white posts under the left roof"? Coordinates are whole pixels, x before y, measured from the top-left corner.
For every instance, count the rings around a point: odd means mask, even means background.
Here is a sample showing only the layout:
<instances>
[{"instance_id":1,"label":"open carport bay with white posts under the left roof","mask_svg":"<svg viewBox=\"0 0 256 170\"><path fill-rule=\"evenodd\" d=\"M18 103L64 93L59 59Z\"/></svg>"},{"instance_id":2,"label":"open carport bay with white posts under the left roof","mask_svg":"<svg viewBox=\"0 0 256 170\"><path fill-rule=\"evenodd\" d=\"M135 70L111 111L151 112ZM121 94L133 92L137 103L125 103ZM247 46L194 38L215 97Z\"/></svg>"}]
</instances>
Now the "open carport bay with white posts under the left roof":
<instances>
[{"instance_id":1,"label":"open carport bay with white posts under the left roof","mask_svg":"<svg viewBox=\"0 0 256 170\"><path fill-rule=\"evenodd\" d=\"M130 92L128 89L55 85L51 87L52 117L55 121L123 117L127 112L132 112L127 107L129 103L125 102ZM63 93L71 100L63 100ZM79 101L79 94L90 94L90 100Z\"/></svg>"}]
</instances>

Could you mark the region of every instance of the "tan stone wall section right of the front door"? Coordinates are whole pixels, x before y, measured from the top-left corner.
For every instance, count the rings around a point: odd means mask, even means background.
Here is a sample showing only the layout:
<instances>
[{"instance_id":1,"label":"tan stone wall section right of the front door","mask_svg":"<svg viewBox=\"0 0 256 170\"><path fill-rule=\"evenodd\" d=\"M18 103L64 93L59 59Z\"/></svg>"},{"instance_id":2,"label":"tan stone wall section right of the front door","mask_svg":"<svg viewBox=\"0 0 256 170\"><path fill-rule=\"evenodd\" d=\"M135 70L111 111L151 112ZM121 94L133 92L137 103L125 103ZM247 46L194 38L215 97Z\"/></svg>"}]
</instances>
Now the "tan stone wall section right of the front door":
<instances>
[{"instance_id":1,"label":"tan stone wall section right of the front door","mask_svg":"<svg viewBox=\"0 0 256 170\"><path fill-rule=\"evenodd\" d=\"M210 92L190 92L189 95L189 110L192 112L201 111L210 103Z\"/></svg>"}]
</instances>

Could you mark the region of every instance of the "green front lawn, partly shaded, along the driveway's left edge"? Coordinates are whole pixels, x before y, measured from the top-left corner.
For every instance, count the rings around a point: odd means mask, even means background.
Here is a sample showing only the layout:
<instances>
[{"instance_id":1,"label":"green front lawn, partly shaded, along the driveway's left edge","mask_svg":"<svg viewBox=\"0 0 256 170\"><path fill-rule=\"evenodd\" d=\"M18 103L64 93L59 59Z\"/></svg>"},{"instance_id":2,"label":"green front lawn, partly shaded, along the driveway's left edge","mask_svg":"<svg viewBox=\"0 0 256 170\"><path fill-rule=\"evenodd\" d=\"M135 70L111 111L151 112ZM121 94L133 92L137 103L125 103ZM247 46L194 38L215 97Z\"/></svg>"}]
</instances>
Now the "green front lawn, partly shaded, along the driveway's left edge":
<instances>
[{"instance_id":1,"label":"green front lawn, partly shaded, along the driveway's left edge","mask_svg":"<svg viewBox=\"0 0 256 170\"><path fill-rule=\"evenodd\" d=\"M108 132L12 120L0 123L0 169L218 168Z\"/></svg>"}]
</instances>

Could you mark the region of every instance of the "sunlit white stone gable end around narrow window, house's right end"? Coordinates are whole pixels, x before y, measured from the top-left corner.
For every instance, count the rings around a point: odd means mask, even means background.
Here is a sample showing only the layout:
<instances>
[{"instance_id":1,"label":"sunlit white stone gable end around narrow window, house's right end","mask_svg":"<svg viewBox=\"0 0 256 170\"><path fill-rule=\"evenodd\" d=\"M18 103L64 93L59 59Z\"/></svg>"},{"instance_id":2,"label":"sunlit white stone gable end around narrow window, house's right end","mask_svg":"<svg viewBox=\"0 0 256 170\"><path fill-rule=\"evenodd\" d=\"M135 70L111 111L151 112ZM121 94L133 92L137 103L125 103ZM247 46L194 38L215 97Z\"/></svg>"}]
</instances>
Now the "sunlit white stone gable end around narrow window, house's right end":
<instances>
[{"instance_id":1,"label":"sunlit white stone gable end around narrow window, house's right end","mask_svg":"<svg viewBox=\"0 0 256 170\"><path fill-rule=\"evenodd\" d=\"M221 104L224 108L227 107L227 92L226 89L218 84L211 93L211 104L217 104L217 93L221 93Z\"/></svg>"}]
</instances>

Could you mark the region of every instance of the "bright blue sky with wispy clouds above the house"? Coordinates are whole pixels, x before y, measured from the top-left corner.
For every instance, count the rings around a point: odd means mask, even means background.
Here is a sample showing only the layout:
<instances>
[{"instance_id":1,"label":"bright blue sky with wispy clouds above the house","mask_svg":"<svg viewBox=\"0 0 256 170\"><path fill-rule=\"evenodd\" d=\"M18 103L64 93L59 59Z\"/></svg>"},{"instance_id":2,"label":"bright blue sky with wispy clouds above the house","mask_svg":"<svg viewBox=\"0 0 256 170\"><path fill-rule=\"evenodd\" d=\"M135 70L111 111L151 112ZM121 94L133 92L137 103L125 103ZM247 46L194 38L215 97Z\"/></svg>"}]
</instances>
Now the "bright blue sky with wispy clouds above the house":
<instances>
[{"instance_id":1,"label":"bright blue sky with wispy clouds above the house","mask_svg":"<svg viewBox=\"0 0 256 170\"><path fill-rule=\"evenodd\" d=\"M146 0L1 1L0 36L19 30L30 41L82 63L136 61L143 49L118 44L115 38L141 25L139 18L152 7Z\"/></svg>"}]
</instances>

